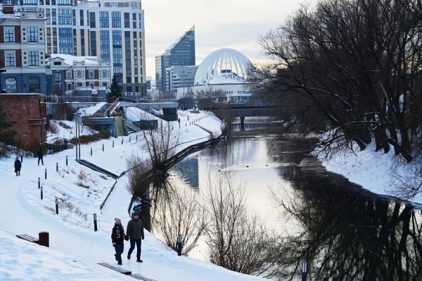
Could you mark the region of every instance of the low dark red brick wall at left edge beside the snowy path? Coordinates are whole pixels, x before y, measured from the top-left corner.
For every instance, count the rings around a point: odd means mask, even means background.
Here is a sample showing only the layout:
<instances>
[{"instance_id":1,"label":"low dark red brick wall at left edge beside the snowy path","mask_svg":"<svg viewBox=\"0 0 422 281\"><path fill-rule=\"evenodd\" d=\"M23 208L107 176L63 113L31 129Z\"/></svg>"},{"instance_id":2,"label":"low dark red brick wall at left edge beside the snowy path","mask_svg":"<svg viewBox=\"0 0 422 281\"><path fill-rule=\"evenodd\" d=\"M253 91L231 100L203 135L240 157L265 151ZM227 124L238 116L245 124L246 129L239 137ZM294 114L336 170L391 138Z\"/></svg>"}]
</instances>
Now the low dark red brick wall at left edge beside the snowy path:
<instances>
[{"instance_id":1,"label":"low dark red brick wall at left edge beside the snowy path","mask_svg":"<svg viewBox=\"0 0 422 281\"><path fill-rule=\"evenodd\" d=\"M8 120L14 123L15 141L18 144L33 151L39 144L46 143L44 95L0 94L0 104Z\"/></svg>"}]
</instances>

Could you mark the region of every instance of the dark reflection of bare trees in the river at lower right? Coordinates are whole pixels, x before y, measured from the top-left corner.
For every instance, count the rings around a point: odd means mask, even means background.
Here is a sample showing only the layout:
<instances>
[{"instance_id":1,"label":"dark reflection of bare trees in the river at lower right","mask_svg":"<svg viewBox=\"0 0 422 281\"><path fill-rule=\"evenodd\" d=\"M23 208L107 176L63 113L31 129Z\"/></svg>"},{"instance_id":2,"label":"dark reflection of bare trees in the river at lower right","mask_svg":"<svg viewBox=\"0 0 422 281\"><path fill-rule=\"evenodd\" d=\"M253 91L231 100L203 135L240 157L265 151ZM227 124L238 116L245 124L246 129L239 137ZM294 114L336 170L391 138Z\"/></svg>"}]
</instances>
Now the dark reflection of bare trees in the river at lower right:
<instances>
[{"instance_id":1,"label":"dark reflection of bare trees in the river at lower right","mask_svg":"<svg viewBox=\"0 0 422 281\"><path fill-rule=\"evenodd\" d=\"M412 206L319 188L282 205L302 227L275 256L292 279L308 261L314 280L422 280L422 225Z\"/></svg>"}]
</instances>

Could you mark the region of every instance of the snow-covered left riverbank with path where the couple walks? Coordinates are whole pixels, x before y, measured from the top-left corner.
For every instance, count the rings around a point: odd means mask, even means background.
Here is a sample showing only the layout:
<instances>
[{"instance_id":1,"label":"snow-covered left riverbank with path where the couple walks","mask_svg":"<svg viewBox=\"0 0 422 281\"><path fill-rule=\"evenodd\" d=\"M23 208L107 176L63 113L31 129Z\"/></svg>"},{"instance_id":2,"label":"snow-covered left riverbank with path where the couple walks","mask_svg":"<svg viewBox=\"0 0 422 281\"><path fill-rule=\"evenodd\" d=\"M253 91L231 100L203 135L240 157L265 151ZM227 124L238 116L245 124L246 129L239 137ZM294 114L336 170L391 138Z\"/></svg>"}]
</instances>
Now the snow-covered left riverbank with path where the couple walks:
<instances>
[{"instance_id":1,"label":"snow-covered left riverbank with path where the couple walks","mask_svg":"<svg viewBox=\"0 0 422 281\"><path fill-rule=\"evenodd\" d=\"M200 117L202 120L199 120ZM171 123L177 128L175 132L180 134L183 142L192 144L210 137L209 132L191 125L193 120L207 130L219 131L220 122L213 115L201 112L190 114L189 118L188 123L186 113L181 114L180 130L177 121ZM119 173L125 170L126 159L132 154L145 156L141 150L142 133L137 135L138 142L135 142L136 135L132 134L130 137L82 145L81 156L113 173ZM105 151L102 151L103 144ZM188 144L182 144L178 149ZM89 155L91 147L93 156ZM66 156L68 166L65 166ZM127 208L131 194L125 187L127 177L117 180L115 190L100 211L99 206L115 180L80 166L74 158L74 150L44 157L44 166L37 166L36 158L23 158L20 177L13 173L13 158L0 160L0 177L3 182L0 187L0 225L4 229L0 230L0 280L132 280L95 265L99 262L116 264L110 234L114 218L121 218L124 226L129 221ZM45 169L47 179L44 179ZM44 190L43 200L40 199L38 177ZM56 198L60 205L58 215L54 212ZM98 218L98 232L93 230L94 213ZM41 231L50 233L51 249L13 237L17 234L37 237ZM127 253L127 242L124 247L123 257ZM149 232L146 232L143 240L141 257L143 263L136 263L134 258L130 261L123 258L122 268L158 281L259 280L205 261L179 257Z\"/></svg>"}]
</instances>

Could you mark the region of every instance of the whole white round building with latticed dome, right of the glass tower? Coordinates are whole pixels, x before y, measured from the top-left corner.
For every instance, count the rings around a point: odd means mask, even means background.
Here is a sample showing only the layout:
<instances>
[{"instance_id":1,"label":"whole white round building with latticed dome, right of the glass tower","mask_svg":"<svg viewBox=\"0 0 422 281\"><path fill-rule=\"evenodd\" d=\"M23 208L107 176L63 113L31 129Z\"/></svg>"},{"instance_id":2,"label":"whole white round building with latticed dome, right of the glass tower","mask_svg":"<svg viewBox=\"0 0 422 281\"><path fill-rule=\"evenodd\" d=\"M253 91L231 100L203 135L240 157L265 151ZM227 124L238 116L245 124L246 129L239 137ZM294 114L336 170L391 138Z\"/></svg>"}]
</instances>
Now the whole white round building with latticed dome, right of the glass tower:
<instances>
[{"instance_id":1,"label":"whole white round building with latticed dome, right of the glass tower","mask_svg":"<svg viewBox=\"0 0 422 281\"><path fill-rule=\"evenodd\" d=\"M219 101L248 101L252 93L248 89L248 70L253 67L249 58L234 49L224 48L213 51L199 65L194 87L198 97L215 97ZM177 89L180 97L188 89ZM224 96L221 94L224 93Z\"/></svg>"}]
</instances>

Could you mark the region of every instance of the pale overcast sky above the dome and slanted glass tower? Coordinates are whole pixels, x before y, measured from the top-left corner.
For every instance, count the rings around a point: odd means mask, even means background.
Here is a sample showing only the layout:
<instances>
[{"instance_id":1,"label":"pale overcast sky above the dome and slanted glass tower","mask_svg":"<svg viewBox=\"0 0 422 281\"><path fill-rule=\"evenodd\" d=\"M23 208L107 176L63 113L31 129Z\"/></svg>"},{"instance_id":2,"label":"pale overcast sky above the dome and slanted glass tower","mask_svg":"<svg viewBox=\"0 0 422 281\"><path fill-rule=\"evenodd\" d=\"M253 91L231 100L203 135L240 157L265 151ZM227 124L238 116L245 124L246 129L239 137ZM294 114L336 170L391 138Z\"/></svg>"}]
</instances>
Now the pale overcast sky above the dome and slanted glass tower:
<instances>
[{"instance_id":1,"label":"pale overcast sky above the dome and slanted glass tower","mask_svg":"<svg viewBox=\"0 0 422 281\"><path fill-rule=\"evenodd\" d=\"M309 0L308 0L309 2ZM260 35L283 23L299 0L143 0L146 75L155 79L155 56L195 25L196 64L219 48L262 57Z\"/></svg>"}]
</instances>

